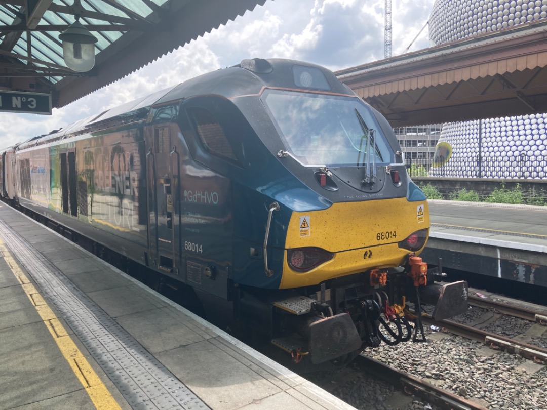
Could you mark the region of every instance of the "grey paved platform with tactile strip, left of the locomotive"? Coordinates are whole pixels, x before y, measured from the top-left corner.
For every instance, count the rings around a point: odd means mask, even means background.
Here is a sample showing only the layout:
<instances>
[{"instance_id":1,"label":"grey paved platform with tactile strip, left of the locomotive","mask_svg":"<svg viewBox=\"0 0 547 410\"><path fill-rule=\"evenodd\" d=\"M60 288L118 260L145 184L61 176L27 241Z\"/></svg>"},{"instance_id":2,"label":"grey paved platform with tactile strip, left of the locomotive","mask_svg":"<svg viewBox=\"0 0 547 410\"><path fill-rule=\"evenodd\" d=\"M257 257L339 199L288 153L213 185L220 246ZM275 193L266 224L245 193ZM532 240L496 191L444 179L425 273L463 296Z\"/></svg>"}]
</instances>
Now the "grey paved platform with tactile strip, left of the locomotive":
<instances>
[{"instance_id":1,"label":"grey paved platform with tactile strip, left of the locomotive","mask_svg":"<svg viewBox=\"0 0 547 410\"><path fill-rule=\"evenodd\" d=\"M0 204L0 410L353 409Z\"/></svg>"}]
</instances>

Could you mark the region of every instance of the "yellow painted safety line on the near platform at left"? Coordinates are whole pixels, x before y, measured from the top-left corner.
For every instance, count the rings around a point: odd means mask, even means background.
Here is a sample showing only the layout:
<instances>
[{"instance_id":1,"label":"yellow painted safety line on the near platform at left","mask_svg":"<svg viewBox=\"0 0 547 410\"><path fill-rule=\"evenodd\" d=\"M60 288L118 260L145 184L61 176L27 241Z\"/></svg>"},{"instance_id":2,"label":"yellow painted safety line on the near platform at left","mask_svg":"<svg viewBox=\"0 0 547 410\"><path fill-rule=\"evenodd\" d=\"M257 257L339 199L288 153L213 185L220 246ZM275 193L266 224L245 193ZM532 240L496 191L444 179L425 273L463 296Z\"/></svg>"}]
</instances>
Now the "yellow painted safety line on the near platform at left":
<instances>
[{"instance_id":1,"label":"yellow painted safety line on the near platform at left","mask_svg":"<svg viewBox=\"0 0 547 410\"><path fill-rule=\"evenodd\" d=\"M59 350L61 350L61 353L65 356L65 359L72 368L72 371L76 377L78 377L80 383L84 386L84 389L95 405L95 408L97 408L97 410L121 410L121 407L114 400L114 397L112 397L110 391L108 391L102 380L97 376L97 373L95 373L88 360L84 358L84 355L80 352L77 345L68 335L65 327L59 319L57 319L51 308L44 301L42 295L39 294L38 290L36 290L34 285L30 282L30 280L28 280L25 273L21 270L15 259L13 259L2 240L0 240L0 252L4 256L4 260L11 268L11 272L13 272L17 280L19 280L21 287L25 290L25 293L34 308L36 308L36 311L51 333L51 336L53 336L55 343L57 343L57 347L59 347ZM45 374L44 377L46 377Z\"/></svg>"}]
</instances>

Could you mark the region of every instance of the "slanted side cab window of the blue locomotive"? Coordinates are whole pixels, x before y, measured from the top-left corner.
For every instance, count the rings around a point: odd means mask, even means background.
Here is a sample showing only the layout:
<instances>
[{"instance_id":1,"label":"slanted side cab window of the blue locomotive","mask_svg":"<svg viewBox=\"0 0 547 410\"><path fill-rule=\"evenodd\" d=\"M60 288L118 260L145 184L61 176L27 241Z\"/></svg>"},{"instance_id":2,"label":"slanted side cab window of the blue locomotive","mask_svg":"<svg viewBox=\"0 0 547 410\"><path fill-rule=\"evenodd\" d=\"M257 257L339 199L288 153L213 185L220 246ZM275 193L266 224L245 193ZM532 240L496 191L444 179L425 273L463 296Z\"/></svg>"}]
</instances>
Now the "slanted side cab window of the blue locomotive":
<instances>
[{"instance_id":1,"label":"slanted side cab window of the blue locomotive","mask_svg":"<svg viewBox=\"0 0 547 410\"><path fill-rule=\"evenodd\" d=\"M205 108L191 107L187 109L200 141L211 154L237 161L224 130Z\"/></svg>"}]
</instances>

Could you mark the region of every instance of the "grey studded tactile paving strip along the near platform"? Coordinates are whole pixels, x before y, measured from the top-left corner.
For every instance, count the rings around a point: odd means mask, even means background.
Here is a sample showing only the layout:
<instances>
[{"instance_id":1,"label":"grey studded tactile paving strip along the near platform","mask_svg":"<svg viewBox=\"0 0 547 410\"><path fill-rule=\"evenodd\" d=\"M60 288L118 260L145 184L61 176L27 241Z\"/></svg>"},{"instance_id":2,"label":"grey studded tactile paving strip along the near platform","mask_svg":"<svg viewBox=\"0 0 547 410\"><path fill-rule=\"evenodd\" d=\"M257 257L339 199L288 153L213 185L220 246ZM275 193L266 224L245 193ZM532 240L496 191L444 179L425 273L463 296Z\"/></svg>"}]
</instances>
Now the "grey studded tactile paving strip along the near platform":
<instances>
[{"instance_id":1,"label":"grey studded tactile paving strip along the near platform","mask_svg":"<svg viewBox=\"0 0 547 410\"><path fill-rule=\"evenodd\" d=\"M134 409L209 409L53 263L0 220L0 236Z\"/></svg>"}]
</instances>

